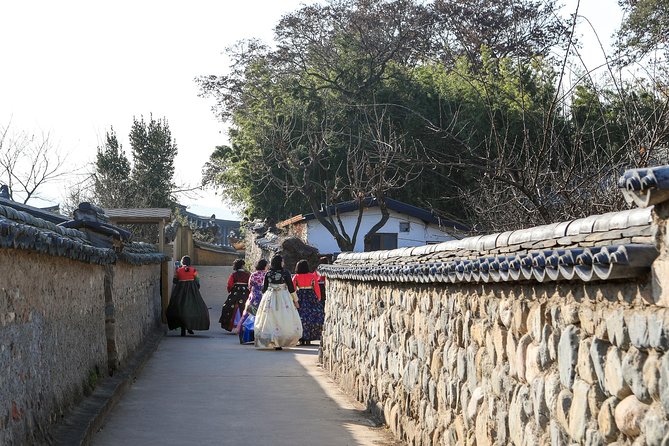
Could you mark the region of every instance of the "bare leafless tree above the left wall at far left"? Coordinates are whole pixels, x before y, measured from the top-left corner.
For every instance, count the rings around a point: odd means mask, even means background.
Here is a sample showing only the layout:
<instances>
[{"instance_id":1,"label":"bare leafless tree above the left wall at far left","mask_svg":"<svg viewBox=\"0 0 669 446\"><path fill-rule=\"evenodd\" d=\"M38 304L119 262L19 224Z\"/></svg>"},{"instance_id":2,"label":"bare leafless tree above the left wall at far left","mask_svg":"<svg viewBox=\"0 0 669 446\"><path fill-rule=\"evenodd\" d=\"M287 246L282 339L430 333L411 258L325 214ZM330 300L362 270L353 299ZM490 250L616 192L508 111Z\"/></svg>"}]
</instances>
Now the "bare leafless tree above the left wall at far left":
<instances>
[{"instance_id":1,"label":"bare leafless tree above the left wall at far left","mask_svg":"<svg viewBox=\"0 0 669 446\"><path fill-rule=\"evenodd\" d=\"M54 146L49 133L36 135L10 131L0 125L0 182L13 200L27 203L39 197L45 185L62 179L67 158Z\"/></svg>"}]
</instances>

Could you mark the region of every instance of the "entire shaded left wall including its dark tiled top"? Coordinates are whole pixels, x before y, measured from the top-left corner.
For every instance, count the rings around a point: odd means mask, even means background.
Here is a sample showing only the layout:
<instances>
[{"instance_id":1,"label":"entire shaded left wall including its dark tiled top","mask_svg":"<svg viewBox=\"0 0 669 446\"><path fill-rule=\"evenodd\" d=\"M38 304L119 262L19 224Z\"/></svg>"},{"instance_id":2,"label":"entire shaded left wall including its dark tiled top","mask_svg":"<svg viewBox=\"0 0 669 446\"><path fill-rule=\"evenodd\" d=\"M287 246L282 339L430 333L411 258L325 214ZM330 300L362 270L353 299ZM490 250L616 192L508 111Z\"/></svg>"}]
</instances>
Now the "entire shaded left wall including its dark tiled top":
<instances>
[{"instance_id":1,"label":"entire shaded left wall including its dark tiled top","mask_svg":"<svg viewBox=\"0 0 669 446\"><path fill-rule=\"evenodd\" d=\"M0 444L44 444L161 322L155 247L99 248L0 206Z\"/></svg>"}]
</instances>

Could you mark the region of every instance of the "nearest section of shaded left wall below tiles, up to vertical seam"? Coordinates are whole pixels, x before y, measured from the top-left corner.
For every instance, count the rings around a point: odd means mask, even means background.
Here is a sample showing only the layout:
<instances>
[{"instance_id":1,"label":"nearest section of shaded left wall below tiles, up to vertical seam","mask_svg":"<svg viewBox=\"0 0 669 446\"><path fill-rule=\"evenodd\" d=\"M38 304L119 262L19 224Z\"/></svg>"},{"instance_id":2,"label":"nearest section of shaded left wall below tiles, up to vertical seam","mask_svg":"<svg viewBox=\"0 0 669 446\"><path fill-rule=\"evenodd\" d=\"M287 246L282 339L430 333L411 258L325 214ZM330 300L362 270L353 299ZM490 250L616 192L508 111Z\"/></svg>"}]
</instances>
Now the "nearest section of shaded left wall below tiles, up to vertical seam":
<instances>
[{"instance_id":1,"label":"nearest section of shaded left wall below tiles, up to vertical seam","mask_svg":"<svg viewBox=\"0 0 669 446\"><path fill-rule=\"evenodd\" d=\"M104 268L0 249L0 444L35 444L107 370Z\"/></svg>"}]
</instances>

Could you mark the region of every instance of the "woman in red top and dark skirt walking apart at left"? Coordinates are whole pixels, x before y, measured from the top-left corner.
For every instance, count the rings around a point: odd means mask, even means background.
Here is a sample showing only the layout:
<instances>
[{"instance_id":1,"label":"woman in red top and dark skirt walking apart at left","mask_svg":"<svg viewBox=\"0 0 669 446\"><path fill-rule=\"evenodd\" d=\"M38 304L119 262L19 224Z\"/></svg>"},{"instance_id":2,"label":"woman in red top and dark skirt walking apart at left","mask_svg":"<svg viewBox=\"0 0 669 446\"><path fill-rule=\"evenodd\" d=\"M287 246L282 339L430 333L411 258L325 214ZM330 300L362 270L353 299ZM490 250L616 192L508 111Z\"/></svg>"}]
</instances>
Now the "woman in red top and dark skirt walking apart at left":
<instances>
[{"instance_id":1,"label":"woman in red top and dark skirt walking apart at left","mask_svg":"<svg viewBox=\"0 0 669 446\"><path fill-rule=\"evenodd\" d=\"M209 330L209 309L200 295L200 277L190 257L183 256L172 281L172 296L165 311L169 329L181 328L181 336L186 336L186 331L193 334L193 330Z\"/></svg>"}]
</instances>

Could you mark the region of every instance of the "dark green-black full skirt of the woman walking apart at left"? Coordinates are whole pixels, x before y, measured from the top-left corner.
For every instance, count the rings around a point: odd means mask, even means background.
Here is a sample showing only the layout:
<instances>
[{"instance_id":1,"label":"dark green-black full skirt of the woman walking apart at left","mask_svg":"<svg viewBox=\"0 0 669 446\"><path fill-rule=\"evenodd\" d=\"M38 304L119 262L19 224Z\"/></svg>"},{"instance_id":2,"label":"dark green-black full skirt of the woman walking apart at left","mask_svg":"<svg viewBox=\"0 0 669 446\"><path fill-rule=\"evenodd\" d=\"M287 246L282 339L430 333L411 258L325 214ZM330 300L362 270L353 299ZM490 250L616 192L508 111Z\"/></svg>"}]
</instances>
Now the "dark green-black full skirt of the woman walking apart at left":
<instances>
[{"instance_id":1,"label":"dark green-black full skirt of the woman walking apart at left","mask_svg":"<svg viewBox=\"0 0 669 446\"><path fill-rule=\"evenodd\" d=\"M174 284L165 317L170 330L209 330L209 309L195 281L184 280Z\"/></svg>"}]
</instances>

